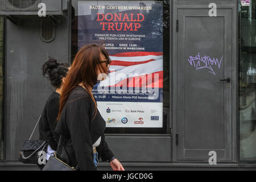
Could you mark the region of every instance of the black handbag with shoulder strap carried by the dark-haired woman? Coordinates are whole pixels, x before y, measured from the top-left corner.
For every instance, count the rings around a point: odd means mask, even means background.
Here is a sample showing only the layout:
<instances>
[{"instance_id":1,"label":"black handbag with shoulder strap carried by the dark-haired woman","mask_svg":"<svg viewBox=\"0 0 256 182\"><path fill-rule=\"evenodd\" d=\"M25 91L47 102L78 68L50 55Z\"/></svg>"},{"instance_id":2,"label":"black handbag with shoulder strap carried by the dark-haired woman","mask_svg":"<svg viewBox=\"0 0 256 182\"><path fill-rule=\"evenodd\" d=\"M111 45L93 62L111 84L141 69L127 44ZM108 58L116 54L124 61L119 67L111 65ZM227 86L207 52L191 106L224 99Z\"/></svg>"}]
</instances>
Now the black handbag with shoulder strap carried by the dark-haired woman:
<instances>
[{"instance_id":1,"label":"black handbag with shoulder strap carried by the dark-haired woman","mask_svg":"<svg viewBox=\"0 0 256 182\"><path fill-rule=\"evenodd\" d=\"M36 126L38 125L40 118L41 115L38 119L38 122L36 123ZM48 144L44 140L31 140L35 128L32 131L30 139L26 140L22 145L22 148L19 152L19 161L22 163L42 165L46 164L46 152Z\"/></svg>"}]
</instances>

